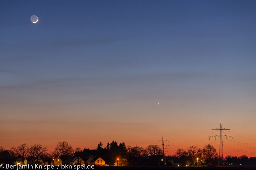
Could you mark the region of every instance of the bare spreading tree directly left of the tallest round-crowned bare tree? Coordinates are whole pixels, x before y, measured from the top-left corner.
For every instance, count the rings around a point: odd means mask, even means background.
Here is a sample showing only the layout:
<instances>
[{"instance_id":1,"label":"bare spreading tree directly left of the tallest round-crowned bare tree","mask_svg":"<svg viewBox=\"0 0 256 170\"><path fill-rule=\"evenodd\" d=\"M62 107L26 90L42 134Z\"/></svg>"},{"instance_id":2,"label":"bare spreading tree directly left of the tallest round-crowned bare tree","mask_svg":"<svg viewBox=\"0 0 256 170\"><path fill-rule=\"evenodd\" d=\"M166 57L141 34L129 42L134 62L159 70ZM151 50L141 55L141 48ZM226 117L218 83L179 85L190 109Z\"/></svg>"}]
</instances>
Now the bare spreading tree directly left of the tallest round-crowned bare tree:
<instances>
[{"instance_id":1,"label":"bare spreading tree directly left of the tallest round-crowned bare tree","mask_svg":"<svg viewBox=\"0 0 256 170\"><path fill-rule=\"evenodd\" d=\"M43 147L40 144L31 146L28 152L30 153L31 157L35 157L35 159L32 159L32 163L34 161L38 163L39 159L41 159L46 154L47 151L48 151L47 147Z\"/></svg>"}]
</instances>

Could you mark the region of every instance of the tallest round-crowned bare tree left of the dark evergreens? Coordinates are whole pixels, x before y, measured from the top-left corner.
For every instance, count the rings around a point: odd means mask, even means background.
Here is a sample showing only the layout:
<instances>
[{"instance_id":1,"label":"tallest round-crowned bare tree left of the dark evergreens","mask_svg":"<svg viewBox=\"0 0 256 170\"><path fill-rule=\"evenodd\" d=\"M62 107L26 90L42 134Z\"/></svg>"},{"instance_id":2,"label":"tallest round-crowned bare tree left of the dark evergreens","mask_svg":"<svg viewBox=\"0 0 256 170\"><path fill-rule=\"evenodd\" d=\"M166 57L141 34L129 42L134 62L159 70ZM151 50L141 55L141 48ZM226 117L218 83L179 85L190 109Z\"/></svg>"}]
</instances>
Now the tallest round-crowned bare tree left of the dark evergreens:
<instances>
[{"instance_id":1,"label":"tallest round-crowned bare tree left of the dark evergreens","mask_svg":"<svg viewBox=\"0 0 256 170\"><path fill-rule=\"evenodd\" d=\"M71 156L74 153L73 147L65 141L59 142L54 151L61 160L64 160L65 157Z\"/></svg>"}]
</instances>

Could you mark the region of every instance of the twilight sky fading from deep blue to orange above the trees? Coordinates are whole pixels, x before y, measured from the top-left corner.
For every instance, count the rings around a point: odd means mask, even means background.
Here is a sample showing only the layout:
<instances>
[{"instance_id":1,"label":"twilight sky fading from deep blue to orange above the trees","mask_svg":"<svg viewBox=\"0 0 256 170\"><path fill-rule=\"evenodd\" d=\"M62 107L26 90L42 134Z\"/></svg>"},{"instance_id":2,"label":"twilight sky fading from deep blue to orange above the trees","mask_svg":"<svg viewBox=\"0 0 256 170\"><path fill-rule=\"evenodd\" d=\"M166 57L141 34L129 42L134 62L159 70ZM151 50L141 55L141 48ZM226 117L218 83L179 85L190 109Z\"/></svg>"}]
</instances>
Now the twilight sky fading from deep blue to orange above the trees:
<instances>
[{"instance_id":1,"label":"twilight sky fading from deep blue to orange above the trees","mask_svg":"<svg viewBox=\"0 0 256 170\"><path fill-rule=\"evenodd\" d=\"M0 1L0 145L146 147L164 135L167 154L199 142L218 150L208 136L220 121L226 135L255 144L255 8ZM256 156L255 145L237 141L224 139L224 156Z\"/></svg>"}]
</instances>

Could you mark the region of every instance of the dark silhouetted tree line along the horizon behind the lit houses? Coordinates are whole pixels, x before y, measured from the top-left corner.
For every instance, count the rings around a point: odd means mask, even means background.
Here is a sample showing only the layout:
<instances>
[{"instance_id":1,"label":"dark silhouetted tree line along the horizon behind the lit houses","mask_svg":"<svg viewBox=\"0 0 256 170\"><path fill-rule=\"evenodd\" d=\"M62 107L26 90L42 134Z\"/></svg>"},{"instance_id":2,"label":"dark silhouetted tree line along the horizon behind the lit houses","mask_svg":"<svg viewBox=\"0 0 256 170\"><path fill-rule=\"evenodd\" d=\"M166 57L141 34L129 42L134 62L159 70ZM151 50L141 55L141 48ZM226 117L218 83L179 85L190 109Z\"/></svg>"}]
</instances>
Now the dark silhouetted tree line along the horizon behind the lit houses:
<instances>
[{"instance_id":1,"label":"dark silhouetted tree line along the horizon behind the lit houses","mask_svg":"<svg viewBox=\"0 0 256 170\"><path fill-rule=\"evenodd\" d=\"M128 165L172 165L174 163L180 165L256 165L256 157L248 158L246 155L239 157L228 155L225 159L221 159L216 148L210 144L202 149L196 146L190 146L187 150L178 148L174 155L164 156L162 153L161 148L157 145L149 145L146 148L133 147L126 146L124 142L118 144L113 140L108 142L105 147L103 147L102 142L99 142L96 149L74 149L68 142L62 141L58 142L54 151L51 152L48 152L47 147L41 144L35 144L30 147L22 144L17 147L11 147L9 150L0 147L0 163L13 164L20 157L23 162L25 159L30 158L33 164L40 163L40 159L50 164L56 156L62 161L75 156L78 157L78 162L79 159L88 157L92 159L101 157L106 161L106 164L110 165L115 165L117 158L126 158Z\"/></svg>"}]
</instances>

